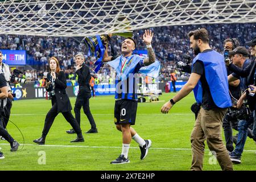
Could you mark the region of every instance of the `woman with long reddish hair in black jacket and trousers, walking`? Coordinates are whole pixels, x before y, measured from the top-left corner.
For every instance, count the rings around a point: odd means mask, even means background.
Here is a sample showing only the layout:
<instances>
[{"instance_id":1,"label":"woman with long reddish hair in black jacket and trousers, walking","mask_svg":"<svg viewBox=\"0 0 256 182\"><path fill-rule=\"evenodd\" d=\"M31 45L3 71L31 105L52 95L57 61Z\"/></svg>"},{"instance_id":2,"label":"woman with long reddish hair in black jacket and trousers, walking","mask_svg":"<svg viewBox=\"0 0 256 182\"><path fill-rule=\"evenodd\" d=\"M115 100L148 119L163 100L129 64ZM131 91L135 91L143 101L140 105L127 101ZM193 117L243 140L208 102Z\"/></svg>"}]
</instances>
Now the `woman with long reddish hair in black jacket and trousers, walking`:
<instances>
[{"instance_id":1,"label":"woman with long reddish hair in black jacket and trousers, walking","mask_svg":"<svg viewBox=\"0 0 256 182\"><path fill-rule=\"evenodd\" d=\"M42 137L34 140L33 142L38 144L45 143L46 135L48 134L55 117L59 113L63 114L64 118L71 124L73 129L76 131L77 138L75 140L72 140L71 142L84 142L80 126L71 113L72 106L65 88L67 88L65 73L63 71L60 71L60 64L56 57L51 57L49 59L49 73L47 74L46 79L46 90L51 96L52 108L48 111L46 115Z\"/></svg>"}]
</instances>

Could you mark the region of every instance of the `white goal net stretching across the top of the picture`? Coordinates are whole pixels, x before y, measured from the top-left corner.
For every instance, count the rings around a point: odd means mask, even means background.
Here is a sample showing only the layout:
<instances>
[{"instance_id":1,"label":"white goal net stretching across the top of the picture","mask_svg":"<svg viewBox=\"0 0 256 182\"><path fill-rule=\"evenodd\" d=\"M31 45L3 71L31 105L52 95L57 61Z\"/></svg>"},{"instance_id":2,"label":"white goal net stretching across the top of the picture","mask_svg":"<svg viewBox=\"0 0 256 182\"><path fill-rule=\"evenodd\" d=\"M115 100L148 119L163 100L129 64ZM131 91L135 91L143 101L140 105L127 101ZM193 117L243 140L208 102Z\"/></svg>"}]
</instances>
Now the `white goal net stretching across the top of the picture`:
<instances>
[{"instance_id":1,"label":"white goal net stretching across the top of the picture","mask_svg":"<svg viewBox=\"0 0 256 182\"><path fill-rule=\"evenodd\" d=\"M1 34L92 36L185 24L254 23L256 1L24 0L0 2Z\"/></svg>"}]
</instances>

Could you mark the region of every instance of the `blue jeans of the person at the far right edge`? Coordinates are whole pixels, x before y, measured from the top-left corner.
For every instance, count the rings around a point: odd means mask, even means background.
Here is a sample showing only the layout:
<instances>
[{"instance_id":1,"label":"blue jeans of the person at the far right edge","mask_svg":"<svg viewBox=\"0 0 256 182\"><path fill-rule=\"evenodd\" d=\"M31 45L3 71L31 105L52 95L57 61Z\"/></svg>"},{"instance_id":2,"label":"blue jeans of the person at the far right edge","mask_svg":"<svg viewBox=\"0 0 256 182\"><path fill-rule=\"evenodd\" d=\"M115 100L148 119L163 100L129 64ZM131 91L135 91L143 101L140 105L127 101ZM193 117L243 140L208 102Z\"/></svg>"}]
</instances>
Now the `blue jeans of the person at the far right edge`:
<instances>
[{"instance_id":1,"label":"blue jeans of the person at the far right edge","mask_svg":"<svg viewBox=\"0 0 256 182\"><path fill-rule=\"evenodd\" d=\"M247 120L240 120L238 122L238 138L237 138L237 144L236 148L234 150L235 154L237 156L242 156L243 148L245 147L245 142L247 138L247 129L253 122L253 134L256 136L256 119L255 119L255 111L253 114L251 114L250 117L253 117L253 119L247 119Z\"/></svg>"}]
</instances>

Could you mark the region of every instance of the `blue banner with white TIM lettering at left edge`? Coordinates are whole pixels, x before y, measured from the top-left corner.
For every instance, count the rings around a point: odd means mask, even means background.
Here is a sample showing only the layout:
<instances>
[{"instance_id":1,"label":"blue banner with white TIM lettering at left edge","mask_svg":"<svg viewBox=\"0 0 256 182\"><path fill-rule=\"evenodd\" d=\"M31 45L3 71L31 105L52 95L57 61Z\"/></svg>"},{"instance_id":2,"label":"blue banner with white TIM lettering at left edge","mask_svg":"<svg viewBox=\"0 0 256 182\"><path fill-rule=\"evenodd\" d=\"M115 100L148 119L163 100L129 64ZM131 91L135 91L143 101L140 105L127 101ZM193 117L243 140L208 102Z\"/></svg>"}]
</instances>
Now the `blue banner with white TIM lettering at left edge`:
<instances>
[{"instance_id":1,"label":"blue banner with white TIM lettering at left edge","mask_svg":"<svg viewBox=\"0 0 256 182\"><path fill-rule=\"evenodd\" d=\"M26 64L26 51L18 50L0 50L3 55L3 63L9 65L25 65Z\"/></svg>"}]
</instances>

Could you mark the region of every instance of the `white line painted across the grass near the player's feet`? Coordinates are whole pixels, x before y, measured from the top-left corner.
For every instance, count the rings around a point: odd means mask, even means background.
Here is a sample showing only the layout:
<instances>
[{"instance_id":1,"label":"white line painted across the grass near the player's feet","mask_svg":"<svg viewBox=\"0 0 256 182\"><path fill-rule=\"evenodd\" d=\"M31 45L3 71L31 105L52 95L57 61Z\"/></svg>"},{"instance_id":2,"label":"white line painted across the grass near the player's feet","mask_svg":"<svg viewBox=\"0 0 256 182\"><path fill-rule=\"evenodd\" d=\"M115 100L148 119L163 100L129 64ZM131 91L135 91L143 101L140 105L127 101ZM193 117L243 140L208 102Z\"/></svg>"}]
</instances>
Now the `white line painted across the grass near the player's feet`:
<instances>
[{"instance_id":1,"label":"white line painted across the grass near the player's feet","mask_svg":"<svg viewBox=\"0 0 256 182\"><path fill-rule=\"evenodd\" d=\"M10 145L8 143L0 143L0 145ZM22 147L23 144L20 144ZM39 146L39 147L71 147L71 148L122 148L122 147L114 147L114 146L63 146L63 145L55 145L55 144L24 144L24 146ZM138 148L138 147L130 147L130 148ZM151 147L150 150L176 150L176 151L191 151L191 148L158 148ZM205 149L205 151L210 151ZM245 152L256 152L256 150L243 150Z\"/></svg>"}]
</instances>

